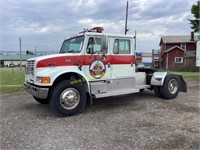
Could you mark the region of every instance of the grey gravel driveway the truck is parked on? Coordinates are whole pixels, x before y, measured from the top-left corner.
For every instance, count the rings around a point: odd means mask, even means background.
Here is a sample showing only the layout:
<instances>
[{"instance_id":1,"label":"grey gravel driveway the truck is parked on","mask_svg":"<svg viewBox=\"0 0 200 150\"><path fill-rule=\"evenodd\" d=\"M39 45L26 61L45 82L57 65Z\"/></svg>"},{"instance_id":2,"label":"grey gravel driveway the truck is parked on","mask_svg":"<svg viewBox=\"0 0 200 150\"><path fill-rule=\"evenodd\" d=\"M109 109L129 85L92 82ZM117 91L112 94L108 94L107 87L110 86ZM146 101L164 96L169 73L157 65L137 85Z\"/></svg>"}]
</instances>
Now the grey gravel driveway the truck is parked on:
<instances>
[{"instance_id":1,"label":"grey gravel driveway the truck is parked on","mask_svg":"<svg viewBox=\"0 0 200 150\"><path fill-rule=\"evenodd\" d=\"M97 99L73 117L22 92L1 95L1 149L199 149L200 84L162 100L153 92Z\"/></svg>"}]
</instances>

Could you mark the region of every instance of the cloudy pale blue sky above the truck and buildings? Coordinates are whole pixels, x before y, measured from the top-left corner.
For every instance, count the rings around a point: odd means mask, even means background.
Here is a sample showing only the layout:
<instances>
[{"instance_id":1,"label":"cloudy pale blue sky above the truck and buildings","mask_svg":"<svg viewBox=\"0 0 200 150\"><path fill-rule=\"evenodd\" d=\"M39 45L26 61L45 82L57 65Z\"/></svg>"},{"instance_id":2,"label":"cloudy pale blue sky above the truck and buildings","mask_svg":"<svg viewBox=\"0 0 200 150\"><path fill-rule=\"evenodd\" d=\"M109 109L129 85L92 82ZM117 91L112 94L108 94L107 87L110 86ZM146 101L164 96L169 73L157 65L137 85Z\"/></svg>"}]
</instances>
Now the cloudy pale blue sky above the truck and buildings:
<instances>
[{"instance_id":1,"label":"cloudy pale blue sky above the truck and buildings","mask_svg":"<svg viewBox=\"0 0 200 150\"><path fill-rule=\"evenodd\" d=\"M59 51L64 39L102 26L124 34L127 0L0 0L0 51ZM161 36L190 35L197 0L129 0L128 33L137 51L159 49Z\"/></svg>"}]
</instances>

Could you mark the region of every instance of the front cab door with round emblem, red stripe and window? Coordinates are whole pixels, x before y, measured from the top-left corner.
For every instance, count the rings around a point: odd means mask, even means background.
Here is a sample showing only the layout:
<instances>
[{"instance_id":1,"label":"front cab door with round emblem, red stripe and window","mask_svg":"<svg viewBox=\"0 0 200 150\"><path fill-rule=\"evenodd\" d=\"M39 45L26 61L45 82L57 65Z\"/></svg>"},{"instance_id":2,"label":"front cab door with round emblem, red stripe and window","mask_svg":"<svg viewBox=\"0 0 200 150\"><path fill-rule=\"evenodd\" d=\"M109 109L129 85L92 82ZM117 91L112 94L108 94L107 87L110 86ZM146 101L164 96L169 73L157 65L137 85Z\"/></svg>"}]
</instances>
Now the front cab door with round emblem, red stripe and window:
<instances>
[{"instance_id":1,"label":"front cab door with round emblem, red stripe and window","mask_svg":"<svg viewBox=\"0 0 200 150\"><path fill-rule=\"evenodd\" d=\"M86 37L84 55L85 74L89 81L110 79L110 57L108 50L102 47L102 36Z\"/></svg>"}]
</instances>

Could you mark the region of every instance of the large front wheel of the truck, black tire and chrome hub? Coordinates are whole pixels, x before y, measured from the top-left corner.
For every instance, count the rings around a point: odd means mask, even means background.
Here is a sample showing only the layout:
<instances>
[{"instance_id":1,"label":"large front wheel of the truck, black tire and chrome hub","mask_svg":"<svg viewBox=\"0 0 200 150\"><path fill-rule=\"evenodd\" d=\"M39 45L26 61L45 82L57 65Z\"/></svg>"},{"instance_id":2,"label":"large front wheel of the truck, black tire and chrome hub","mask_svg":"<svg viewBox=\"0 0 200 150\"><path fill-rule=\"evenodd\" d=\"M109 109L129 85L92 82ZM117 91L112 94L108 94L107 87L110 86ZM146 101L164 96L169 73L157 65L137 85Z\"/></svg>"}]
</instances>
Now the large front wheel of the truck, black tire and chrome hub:
<instances>
[{"instance_id":1,"label":"large front wheel of the truck, black tire and chrome hub","mask_svg":"<svg viewBox=\"0 0 200 150\"><path fill-rule=\"evenodd\" d=\"M62 81L52 90L49 105L59 116L80 113L86 104L85 87L81 83Z\"/></svg>"}]
</instances>

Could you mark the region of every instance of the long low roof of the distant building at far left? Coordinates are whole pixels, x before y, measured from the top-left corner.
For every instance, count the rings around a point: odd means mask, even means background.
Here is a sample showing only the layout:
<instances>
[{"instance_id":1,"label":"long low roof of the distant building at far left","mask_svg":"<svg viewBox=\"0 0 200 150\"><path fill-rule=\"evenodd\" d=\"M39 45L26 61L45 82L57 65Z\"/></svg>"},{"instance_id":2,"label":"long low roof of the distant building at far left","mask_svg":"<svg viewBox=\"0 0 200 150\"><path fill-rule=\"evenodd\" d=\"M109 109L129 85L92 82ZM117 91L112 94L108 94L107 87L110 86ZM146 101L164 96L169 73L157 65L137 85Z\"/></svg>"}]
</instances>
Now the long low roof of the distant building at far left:
<instances>
[{"instance_id":1,"label":"long low roof of the distant building at far left","mask_svg":"<svg viewBox=\"0 0 200 150\"><path fill-rule=\"evenodd\" d=\"M22 55L21 60L27 60L29 58L35 57L35 55ZM0 60L9 60L9 61L19 61L20 55L0 55Z\"/></svg>"}]
</instances>

